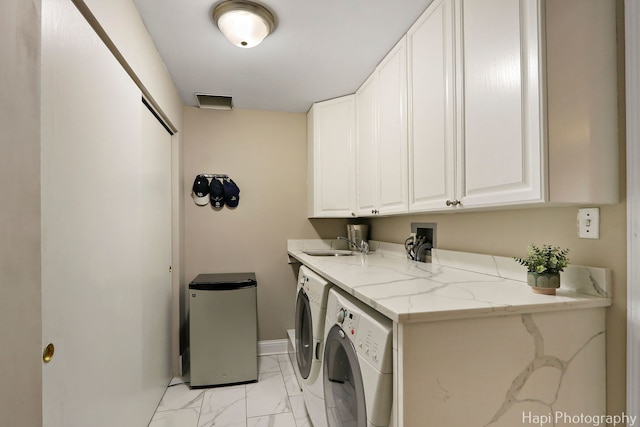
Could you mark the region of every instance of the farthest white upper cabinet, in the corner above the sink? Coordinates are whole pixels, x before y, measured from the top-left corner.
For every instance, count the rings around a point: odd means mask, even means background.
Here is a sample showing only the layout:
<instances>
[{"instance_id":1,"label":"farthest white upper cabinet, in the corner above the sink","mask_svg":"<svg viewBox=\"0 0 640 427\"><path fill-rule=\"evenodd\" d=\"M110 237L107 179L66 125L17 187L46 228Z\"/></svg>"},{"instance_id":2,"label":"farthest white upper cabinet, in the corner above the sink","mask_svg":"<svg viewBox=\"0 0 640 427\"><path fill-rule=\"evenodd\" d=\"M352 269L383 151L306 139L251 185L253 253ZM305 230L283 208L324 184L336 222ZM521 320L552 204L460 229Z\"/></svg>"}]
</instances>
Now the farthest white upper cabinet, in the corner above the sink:
<instances>
[{"instance_id":1,"label":"farthest white upper cabinet, in the corner above the sink","mask_svg":"<svg viewBox=\"0 0 640 427\"><path fill-rule=\"evenodd\" d=\"M355 216L354 95L313 104L307 133L308 216Z\"/></svg>"}]
</instances>

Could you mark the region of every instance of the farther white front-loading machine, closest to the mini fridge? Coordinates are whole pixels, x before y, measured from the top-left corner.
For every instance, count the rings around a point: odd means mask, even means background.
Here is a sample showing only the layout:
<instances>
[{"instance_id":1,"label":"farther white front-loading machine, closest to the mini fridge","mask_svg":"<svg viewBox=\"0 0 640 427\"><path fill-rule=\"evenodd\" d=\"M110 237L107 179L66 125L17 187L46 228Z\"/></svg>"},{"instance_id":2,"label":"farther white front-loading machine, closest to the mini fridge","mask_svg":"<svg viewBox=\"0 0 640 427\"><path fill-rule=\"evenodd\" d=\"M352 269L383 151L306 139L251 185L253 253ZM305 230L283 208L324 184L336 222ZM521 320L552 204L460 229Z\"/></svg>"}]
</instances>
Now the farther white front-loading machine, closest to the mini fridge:
<instances>
[{"instance_id":1,"label":"farther white front-loading machine, closest to the mini fridge","mask_svg":"<svg viewBox=\"0 0 640 427\"><path fill-rule=\"evenodd\" d=\"M298 273L296 297L296 368L309 418L314 427L326 427L322 355L327 298L331 283L305 266Z\"/></svg>"}]
</instances>

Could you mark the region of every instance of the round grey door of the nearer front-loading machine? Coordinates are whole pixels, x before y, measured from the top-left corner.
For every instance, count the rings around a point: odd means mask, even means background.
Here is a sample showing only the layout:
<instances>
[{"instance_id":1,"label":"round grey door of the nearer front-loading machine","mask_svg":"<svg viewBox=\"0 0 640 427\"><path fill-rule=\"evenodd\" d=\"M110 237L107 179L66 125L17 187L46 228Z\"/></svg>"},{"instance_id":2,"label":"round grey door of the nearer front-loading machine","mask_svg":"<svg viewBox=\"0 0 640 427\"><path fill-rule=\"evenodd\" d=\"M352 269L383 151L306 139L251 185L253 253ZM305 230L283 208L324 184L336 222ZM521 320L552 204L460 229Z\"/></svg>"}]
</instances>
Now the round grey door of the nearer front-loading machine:
<instances>
[{"instance_id":1,"label":"round grey door of the nearer front-loading machine","mask_svg":"<svg viewBox=\"0 0 640 427\"><path fill-rule=\"evenodd\" d=\"M356 349L334 325L324 347L324 404L329 427L367 427L362 373Z\"/></svg>"}]
</instances>

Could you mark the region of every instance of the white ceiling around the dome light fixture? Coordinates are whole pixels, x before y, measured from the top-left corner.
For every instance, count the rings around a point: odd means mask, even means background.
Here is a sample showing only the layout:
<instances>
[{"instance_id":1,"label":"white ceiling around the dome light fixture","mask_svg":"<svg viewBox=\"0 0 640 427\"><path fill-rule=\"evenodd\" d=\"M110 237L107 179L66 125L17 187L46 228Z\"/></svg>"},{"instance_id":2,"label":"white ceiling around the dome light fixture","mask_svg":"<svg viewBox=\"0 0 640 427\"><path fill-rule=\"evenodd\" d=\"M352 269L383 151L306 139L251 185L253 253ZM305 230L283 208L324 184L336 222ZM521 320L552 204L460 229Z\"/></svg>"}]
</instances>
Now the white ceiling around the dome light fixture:
<instances>
[{"instance_id":1,"label":"white ceiling around the dome light fixture","mask_svg":"<svg viewBox=\"0 0 640 427\"><path fill-rule=\"evenodd\" d=\"M252 49L211 19L220 0L133 0L186 105L194 93L234 108L306 112L354 93L432 0L265 0L277 28Z\"/></svg>"}]
</instances>

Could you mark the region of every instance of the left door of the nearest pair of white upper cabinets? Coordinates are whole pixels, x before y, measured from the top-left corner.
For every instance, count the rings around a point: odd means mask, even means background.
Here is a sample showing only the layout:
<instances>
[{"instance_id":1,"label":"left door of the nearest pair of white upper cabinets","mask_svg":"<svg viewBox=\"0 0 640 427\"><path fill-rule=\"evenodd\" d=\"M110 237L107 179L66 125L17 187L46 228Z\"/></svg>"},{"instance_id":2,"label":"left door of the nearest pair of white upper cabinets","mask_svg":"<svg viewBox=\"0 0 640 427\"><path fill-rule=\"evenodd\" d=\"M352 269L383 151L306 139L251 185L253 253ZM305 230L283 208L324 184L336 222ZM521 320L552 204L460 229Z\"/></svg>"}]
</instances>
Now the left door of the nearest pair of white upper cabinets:
<instances>
[{"instance_id":1,"label":"left door of the nearest pair of white upper cabinets","mask_svg":"<svg viewBox=\"0 0 640 427\"><path fill-rule=\"evenodd\" d=\"M436 0L407 33L409 210L455 199L453 0Z\"/></svg>"}]
</instances>

